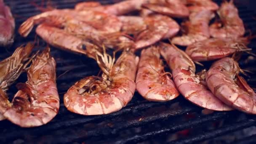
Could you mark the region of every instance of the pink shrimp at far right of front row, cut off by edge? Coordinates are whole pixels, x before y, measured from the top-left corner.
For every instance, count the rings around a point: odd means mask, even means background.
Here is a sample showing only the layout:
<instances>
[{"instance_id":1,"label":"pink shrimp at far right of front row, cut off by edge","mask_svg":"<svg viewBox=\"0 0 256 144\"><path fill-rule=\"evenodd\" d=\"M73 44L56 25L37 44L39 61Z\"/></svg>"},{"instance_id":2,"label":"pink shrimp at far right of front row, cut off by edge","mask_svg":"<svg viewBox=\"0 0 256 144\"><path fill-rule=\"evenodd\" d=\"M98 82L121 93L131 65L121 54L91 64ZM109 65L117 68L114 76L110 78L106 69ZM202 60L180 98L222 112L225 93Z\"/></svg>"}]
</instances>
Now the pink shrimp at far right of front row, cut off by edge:
<instances>
[{"instance_id":1,"label":"pink shrimp at far right of front row, cut off by edge","mask_svg":"<svg viewBox=\"0 0 256 144\"><path fill-rule=\"evenodd\" d=\"M239 76L240 68L232 58L213 63L206 73L210 90L224 103L248 114L256 114L256 94Z\"/></svg>"}]
</instances>

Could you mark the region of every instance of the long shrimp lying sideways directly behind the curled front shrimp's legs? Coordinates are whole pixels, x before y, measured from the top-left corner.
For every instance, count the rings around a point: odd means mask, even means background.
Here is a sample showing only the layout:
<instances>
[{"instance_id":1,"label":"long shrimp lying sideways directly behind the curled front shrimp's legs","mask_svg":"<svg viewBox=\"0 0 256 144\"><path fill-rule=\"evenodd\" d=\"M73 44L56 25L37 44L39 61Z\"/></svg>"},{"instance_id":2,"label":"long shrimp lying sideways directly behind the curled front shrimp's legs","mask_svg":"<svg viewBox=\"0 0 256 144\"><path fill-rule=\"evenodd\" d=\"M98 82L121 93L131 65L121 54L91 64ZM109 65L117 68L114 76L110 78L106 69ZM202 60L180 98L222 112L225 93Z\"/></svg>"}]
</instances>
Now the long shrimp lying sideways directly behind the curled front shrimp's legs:
<instances>
[{"instance_id":1,"label":"long shrimp lying sideways directly behind the curled front shrimp's legs","mask_svg":"<svg viewBox=\"0 0 256 144\"><path fill-rule=\"evenodd\" d=\"M85 26L86 27L86 26ZM67 51L87 54L87 49L92 49L95 45L106 45L109 48L123 48L134 45L133 40L121 33L101 34L97 31L86 32L83 23L68 24L65 29L40 24L36 28L36 33L47 43Z\"/></svg>"}]
</instances>

